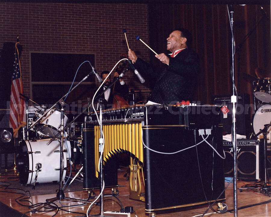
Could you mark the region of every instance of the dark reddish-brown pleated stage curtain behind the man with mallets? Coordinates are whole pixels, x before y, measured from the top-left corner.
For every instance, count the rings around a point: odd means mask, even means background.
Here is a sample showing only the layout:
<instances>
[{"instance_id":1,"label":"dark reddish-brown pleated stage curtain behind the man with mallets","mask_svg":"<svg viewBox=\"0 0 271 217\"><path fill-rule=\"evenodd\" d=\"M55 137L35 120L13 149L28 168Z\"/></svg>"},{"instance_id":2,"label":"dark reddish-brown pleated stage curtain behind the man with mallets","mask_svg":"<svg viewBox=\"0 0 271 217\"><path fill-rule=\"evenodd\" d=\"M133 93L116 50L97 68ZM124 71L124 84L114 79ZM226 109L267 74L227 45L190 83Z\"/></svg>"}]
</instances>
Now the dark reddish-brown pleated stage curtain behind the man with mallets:
<instances>
[{"instance_id":1,"label":"dark reddish-brown pleated stage curtain behind the man with mallets","mask_svg":"<svg viewBox=\"0 0 271 217\"><path fill-rule=\"evenodd\" d=\"M253 85L248 75L256 76L259 67L264 69L265 77L271 77L270 5L262 7L268 17L260 5L234 5L235 84L238 93L250 94L251 103ZM232 94L232 36L226 5L149 4L149 24L150 47L157 53L169 53L166 39L173 30L184 27L192 33L192 49L201 60L195 100L205 104L211 103L212 95ZM150 57L151 64L160 64L152 52Z\"/></svg>"}]
</instances>

